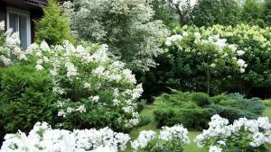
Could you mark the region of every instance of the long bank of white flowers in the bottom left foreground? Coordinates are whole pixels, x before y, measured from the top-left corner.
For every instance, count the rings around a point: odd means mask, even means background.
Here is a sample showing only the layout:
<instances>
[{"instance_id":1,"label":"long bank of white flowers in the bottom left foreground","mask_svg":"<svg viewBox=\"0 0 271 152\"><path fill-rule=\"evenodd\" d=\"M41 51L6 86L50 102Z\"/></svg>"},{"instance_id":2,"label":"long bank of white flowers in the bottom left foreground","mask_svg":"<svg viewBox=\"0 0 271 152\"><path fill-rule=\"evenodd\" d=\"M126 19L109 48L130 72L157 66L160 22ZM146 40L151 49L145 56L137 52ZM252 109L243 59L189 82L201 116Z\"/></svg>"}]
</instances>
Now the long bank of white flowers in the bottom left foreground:
<instances>
[{"instance_id":1,"label":"long bank of white flowers in the bottom left foreground","mask_svg":"<svg viewBox=\"0 0 271 152\"><path fill-rule=\"evenodd\" d=\"M7 134L0 152L117 152L126 148L129 135L101 130L52 130L37 122L29 135Z\"/></svg>"}]
</instances>

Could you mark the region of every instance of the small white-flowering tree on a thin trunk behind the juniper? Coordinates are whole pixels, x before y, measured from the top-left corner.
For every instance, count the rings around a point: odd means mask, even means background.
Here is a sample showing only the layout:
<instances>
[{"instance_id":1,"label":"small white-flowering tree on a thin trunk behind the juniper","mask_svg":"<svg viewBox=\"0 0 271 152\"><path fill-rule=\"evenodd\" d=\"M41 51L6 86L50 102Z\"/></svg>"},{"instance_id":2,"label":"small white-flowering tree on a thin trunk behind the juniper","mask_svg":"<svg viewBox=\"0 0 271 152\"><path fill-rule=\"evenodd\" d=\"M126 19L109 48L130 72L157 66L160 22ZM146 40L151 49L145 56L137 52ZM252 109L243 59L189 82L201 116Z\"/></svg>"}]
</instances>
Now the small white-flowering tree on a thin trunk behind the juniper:
<instances>
[{"instance_id":1,"label":"small white-flowering tree on a thin trunk behind the juniper","mask_svg":"<svg viewBox=\"0 0 271 152\"><path fill-rule=\"evenodd\" d=\"M248 64L242 59L244 50L236 44L229 44L220 35L208 35L197 29L182 27L180 33L165 40L165 49L171 56L181 58L186 68L194 67L194 73L201 73L207 80L207 92L210 94L210 79L225 74L244 73ZM170 57L171 57L170 56Z\"/></svg>"}]
</instances>

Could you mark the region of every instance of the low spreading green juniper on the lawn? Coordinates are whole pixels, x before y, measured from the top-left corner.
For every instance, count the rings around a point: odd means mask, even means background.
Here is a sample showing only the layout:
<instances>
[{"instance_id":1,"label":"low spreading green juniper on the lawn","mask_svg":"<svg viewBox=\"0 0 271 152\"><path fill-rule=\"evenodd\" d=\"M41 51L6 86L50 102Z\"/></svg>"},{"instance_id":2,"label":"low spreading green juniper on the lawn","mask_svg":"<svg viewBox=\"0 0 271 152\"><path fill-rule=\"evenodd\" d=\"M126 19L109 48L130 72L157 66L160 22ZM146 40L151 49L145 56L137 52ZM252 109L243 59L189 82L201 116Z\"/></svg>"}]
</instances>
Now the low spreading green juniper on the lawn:
<instances>
[{"instance_id":1,"label":"low spreading green juniper on the lawn","mask_svg":"<svg viewBox=\"0 0 271 152\"><path fill-rule=\"evenodd\" d=\"M209 97L204 93L161 94L154 101L154 117L158 126L182 123L192 130L208 128L210 117L219 114L229 121L247 117L257 119L265 110L258 98L246 99L241 94L220 94Z\"/></svg>"}]
</instances>

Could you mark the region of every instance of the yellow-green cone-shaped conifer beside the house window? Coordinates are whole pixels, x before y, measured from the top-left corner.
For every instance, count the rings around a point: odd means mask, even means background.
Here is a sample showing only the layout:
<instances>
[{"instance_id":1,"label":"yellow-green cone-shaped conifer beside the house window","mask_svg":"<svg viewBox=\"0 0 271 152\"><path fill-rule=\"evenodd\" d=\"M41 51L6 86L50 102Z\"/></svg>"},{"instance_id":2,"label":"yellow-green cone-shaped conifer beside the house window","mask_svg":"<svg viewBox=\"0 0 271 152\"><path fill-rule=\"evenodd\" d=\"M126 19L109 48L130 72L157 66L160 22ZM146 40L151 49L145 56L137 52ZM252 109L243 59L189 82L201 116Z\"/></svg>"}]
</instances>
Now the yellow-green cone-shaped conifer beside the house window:
<instances>
[{"instance_id":1,"label":"yellow-green cone-shaped conifer beside the house window","mask_svg":"<svg viewBox=\"0 0 271 152\"><path fill-rule=\"evenodd\" d=\"M70 20L61 14L61 8L56 0L48 0L44 16L36 23L36 42L45 40L49 45L62 44L63 40L75 42L70 35Z\"/></svg>"}]
</instances>

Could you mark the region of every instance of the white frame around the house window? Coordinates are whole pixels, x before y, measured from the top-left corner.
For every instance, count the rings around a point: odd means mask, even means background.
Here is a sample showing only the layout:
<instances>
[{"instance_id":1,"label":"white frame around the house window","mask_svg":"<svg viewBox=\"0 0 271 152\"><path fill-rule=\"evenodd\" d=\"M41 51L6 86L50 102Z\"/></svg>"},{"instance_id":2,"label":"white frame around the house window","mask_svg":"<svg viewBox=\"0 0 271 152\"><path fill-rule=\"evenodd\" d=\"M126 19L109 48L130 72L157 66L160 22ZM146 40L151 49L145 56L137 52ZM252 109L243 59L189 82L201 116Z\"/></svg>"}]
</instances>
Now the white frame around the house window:
<instances>
[{"instance_id":1,"label":"white frame around the house window","mask_svg":"<svg viewBox=\"0 0 271 152\"><path fill-rule=\"evenodd\" d=\"M10 29L9 27L9 13L15 13L15 14L19 14L22 15L24 17L26 17L26 45L29 46L31 44L31 22L30 22L30 12L29 11L25 11L25 10L21 10L21 9L17 9L14 7L6 7L6 25L7 25L7 29ZM19 20L18 20L18 25L19 25ZM18 26L18 31L20 31L20 26Z\"/></svg>"}]
</instances>

